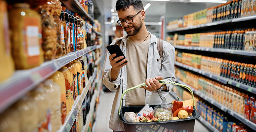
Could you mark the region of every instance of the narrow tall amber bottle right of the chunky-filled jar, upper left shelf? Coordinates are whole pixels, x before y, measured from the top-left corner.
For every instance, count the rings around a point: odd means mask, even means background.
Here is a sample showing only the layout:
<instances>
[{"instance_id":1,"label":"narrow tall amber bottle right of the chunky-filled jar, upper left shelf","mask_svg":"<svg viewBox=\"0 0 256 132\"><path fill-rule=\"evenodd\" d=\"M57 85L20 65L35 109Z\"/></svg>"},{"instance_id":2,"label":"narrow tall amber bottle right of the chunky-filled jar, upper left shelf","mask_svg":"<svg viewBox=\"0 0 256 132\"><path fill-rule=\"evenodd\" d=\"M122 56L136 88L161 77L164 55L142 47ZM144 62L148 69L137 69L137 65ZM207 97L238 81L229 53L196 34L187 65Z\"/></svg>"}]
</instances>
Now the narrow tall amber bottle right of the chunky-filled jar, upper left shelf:
<instances>
[{"instance_id":1,"label":"narrow tall amber bottle right of the chunky-filled jar, upper left shelf","mask_svg":"<svg viewBox=\"0 0 256 132\"><path fill-rule=\"evenodd\" d=\"M63 49L62 46L65 45L65 43L63 43L63 41L61 41L61 20L60 20L60 13L61 13L61 2L59 0L52 0L52 5L51 5L51 15L53 16L53 20L54 20L54 25L55 25L55 29L57 32L57 47L56 47L56 55L55 55L55 59L59 58L62 56L63 53ZM64 46L65 47L65 46Z\"/></svg>"}]
</instances>

